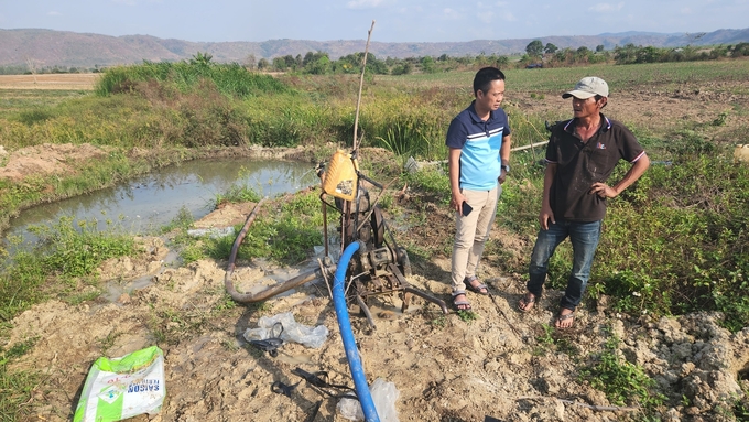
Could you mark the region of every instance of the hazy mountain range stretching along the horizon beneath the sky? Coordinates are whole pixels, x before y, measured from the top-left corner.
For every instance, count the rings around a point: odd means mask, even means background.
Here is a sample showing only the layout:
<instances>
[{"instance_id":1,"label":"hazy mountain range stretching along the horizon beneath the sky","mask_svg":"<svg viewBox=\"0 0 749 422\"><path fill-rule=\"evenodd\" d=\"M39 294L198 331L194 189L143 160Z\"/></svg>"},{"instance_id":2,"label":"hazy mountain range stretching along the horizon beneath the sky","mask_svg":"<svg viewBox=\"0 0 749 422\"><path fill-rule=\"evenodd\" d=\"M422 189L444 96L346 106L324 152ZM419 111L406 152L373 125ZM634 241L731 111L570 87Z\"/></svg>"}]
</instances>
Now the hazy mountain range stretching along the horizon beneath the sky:
<instances>
[{"instance_id":1,"label":"hazy mountain range stretching along the horizon beneath the sky","mask_svg":"<svg viewBox=\"0 0 749 422\"><path fill-rule=\"evenodd\" d=\"M383 43L371 42L369 51L378 58L433 56L475 56L478 54L521 54L533 40L544 45L552 43L560 48L586 46L606 50L626 44L655 47L680 47L736 44L749 42L749 28L743 30L718 30L701 33L623 32L598 35L541 36L535 39L476 40L467 42L436 43ZM248 57L272 59L278 56L307 52L327 52L332 59L365 51L365 40L308 41L269 40L264 42L189 42L159 39L151 35L110 36L43 29L0 29L0 66L111 66L141 63L142 61L181 61L196 53L208 53L217 63L246 63Z\"/></svg>"}]
</instances>

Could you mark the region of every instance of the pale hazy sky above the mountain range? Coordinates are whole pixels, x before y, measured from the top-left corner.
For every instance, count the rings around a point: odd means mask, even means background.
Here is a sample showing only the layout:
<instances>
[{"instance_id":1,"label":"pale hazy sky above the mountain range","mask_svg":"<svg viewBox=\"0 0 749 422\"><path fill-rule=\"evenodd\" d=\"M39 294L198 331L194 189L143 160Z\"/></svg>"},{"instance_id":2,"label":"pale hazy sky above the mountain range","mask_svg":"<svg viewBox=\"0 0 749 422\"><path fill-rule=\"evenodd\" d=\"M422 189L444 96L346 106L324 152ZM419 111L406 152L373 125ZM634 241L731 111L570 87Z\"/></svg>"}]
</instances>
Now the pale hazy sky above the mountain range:
<instances>
[{"instance_id":1,"label":"pale hazy sky above the mountain range","mask_svg":"<svg viewBox=\"0 0 749 422\"><path fill-rule=\"evenodd\" d=\"M438 42L749 28L749 0L0 0L0 29L186 41Z\"/></svg>"}]
</instances>

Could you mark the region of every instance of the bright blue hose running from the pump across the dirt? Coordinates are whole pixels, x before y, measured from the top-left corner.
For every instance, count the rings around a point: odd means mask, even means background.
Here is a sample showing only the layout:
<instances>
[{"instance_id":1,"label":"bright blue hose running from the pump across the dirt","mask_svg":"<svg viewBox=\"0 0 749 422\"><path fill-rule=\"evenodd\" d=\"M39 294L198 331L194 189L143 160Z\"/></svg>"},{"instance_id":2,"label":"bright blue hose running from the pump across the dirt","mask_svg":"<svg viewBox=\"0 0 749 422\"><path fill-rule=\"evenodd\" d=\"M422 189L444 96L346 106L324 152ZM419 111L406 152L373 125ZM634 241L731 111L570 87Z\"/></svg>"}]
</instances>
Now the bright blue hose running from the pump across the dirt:
<instances>
[{"instance_id":1,"label":"bright blue hose running from the pump across the dirt","mask_svg":"<svg viewBox=\"0 0 749 422\"><path fill-rule=\"evenodd\" d=\"M351 260L354 253L359 250L361 246L358 241L349 244L344 253L338 260L338 267L336 268L336 274L333 279L333 304L336 309L336 316L338 317L338 328L340 329L340 337L344 340L344 349L346 350L346 358L348 359L348 366L351 368L351 377L354 378L354 387L356 388L356 394L359 398L359 403L361 403L361 410L365 413L365 420L367 422L380 422L380 418L377 415L377 409L374 408L374 402L372 401L372 394L369 392L369 386L367 385L367 378L365 377L365 371L361 368L361 359L359 358L359 350L356 347L356 342L354 340L354 333L351 332L351 320L348 317L348 307L346 306L346 294L344 292L344 280L346 279L346 270L348 269L348 262Z\"/></svg>"}]
</instances>

